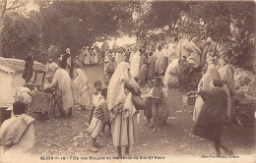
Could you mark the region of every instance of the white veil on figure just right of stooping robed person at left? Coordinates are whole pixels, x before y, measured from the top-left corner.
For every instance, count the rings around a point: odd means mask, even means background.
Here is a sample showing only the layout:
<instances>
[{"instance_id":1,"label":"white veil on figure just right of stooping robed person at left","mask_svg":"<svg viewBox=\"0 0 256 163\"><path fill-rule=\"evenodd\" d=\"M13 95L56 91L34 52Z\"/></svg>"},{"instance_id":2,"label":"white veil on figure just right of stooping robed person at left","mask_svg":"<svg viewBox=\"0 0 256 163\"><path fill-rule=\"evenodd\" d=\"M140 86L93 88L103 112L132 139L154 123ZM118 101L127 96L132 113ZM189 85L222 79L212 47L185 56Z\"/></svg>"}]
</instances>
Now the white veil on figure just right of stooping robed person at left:
<instances>
[{"instance_id":1,"label":"white veil on figure just right of stooping robed person at left","mask_svg":"<svg viewBox=\"0 0 256 163\"><path fill-rule=\"evenodd\" d=\"M88 89L88 78L81 69L77 69L78 77L74 81L74 86L78 90Z\"/></svg>"}]
</instances>

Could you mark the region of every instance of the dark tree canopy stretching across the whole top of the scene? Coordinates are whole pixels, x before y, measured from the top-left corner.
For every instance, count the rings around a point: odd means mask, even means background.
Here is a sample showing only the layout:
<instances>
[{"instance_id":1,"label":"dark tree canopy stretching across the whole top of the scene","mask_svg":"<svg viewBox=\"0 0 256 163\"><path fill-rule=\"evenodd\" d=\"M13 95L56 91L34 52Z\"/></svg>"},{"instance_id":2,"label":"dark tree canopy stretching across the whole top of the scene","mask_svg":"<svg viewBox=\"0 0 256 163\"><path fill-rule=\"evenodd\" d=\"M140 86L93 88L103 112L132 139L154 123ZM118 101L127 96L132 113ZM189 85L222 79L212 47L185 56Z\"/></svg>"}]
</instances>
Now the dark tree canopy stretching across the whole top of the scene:
<instances>
[{"instance_id":1,"label":"dark tree canopy stretching across the whole top of the scene","mask_svg":"<svg viewBox=\"0 0 256 163\"><path fill-rule=\"evenodd\" d=\"M39 10L29 17L5 14L3 56L23 58L32 52L45 62L58 58L67 47L77 54L96 40L122 34L141 36L150 29L169 27L171 32L211 36L224 44L224 54L238 64L251 47L248 35L255 33L254 2L53 0L37 1L37 5Z\"/></svg>"}]
</instances>

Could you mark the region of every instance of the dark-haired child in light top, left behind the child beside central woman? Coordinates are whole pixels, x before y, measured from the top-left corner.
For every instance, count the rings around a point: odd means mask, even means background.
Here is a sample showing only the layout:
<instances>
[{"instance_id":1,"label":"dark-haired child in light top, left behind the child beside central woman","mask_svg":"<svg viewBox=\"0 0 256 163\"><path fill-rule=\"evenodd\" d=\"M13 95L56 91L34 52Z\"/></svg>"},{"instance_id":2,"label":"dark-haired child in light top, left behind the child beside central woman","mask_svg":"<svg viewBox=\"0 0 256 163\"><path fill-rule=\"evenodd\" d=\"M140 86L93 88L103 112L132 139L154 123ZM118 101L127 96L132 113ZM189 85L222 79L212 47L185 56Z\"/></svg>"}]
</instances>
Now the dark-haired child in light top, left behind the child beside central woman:
<instances>
[{"instance_id":1,"label":"dark-haired child in light top, left behind the child beside central woman","mask_svg":"<svg viewBox=\"0 0 256 163\"><path fill-rule=\"evenodd\" d=\"M102 83L101 81L95 81L95 89L93 91L93 108L91 110L90 113L90 118L89 118L89 125L91 124L92 118L93 118L93 114L94 114L94 110L96 108L96 106L98 105L98 102L100 101L101 96L101 89L102 89Z\"/></svg>"}]
</instances>

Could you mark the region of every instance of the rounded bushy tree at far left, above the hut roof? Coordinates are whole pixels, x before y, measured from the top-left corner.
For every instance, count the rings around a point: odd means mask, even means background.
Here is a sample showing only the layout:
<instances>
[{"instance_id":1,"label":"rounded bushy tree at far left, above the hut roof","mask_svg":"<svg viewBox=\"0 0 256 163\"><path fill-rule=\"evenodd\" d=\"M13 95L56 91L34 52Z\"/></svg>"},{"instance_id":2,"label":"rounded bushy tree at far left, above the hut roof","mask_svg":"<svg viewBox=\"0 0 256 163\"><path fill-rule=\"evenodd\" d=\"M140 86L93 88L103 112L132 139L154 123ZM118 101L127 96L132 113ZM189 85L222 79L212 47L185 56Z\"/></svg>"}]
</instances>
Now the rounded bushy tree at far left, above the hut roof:
<instances>
[{"instance_id":1,"label":"rounded bushy tree at far left, above the hut roof","mask_svg":"<svg viewBox=\"0 0 256 163\"><path fill-rule=\"evenodd\" d=\"M1 52L4 57L24 58L25 53L38 46L39 37L32 20L11 13L4 19Z\"/></svg>"}]
</instances>

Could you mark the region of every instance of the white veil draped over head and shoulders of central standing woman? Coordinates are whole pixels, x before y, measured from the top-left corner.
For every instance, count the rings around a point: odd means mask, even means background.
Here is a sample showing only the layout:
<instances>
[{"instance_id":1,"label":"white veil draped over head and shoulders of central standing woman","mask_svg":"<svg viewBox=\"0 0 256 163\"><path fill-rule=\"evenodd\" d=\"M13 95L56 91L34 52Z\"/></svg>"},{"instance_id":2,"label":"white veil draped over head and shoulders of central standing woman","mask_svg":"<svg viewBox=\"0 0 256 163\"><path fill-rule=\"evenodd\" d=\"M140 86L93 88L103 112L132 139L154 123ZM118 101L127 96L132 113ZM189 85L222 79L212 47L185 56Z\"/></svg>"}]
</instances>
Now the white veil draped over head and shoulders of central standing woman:
<instances>
[{"instance_id":1,"label":"white veil draped over head and shoulders of central standing woman","mask_svg":"<svg viewBox=\"0 0 256 163\"><path fill-rule=\"evenodd\" d=\"M112 110L114 106L125 99L126 94L124 92L124 84L126 81L139 87L129 72L130 68L131 66L129 63L121 62L112 75L108 84L106 96L108 110Z\"/></svg>"}]
</instances>

